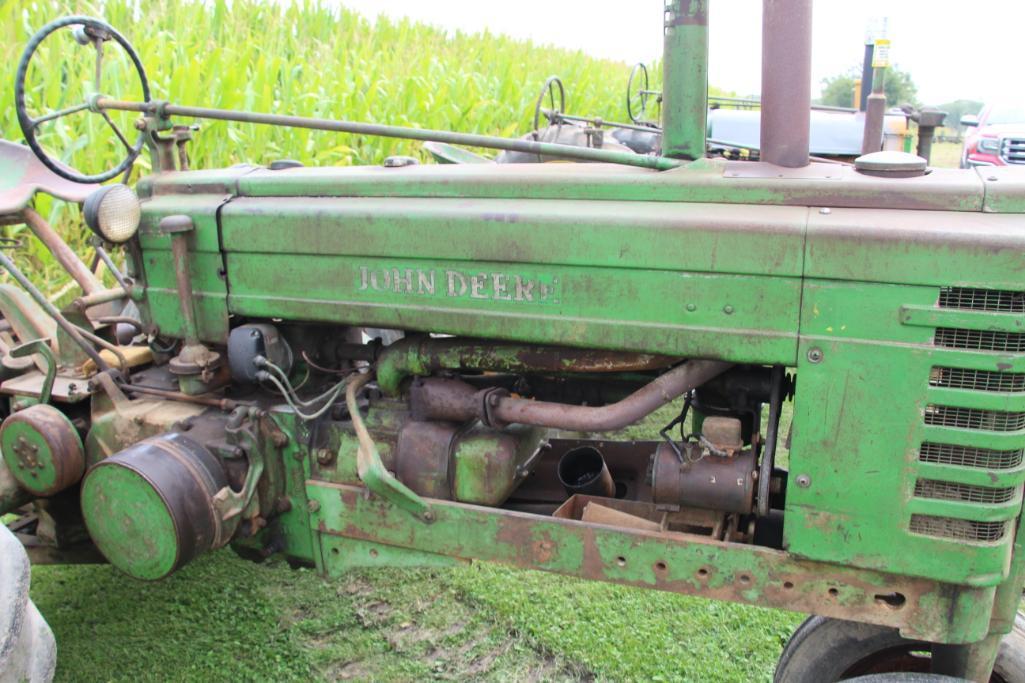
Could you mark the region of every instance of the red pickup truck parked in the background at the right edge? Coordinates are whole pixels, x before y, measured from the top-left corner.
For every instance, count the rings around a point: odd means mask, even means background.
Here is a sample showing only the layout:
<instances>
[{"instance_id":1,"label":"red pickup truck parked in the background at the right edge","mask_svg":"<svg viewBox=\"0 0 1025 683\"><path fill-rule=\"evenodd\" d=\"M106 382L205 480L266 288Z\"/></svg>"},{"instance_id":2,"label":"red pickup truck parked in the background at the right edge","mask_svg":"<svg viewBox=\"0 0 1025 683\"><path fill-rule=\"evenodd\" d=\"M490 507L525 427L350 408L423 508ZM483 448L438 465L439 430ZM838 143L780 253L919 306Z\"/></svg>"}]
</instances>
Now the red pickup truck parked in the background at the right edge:
<instances>
[{"instance_id":1,"label":"red pickup truck parked in the background at the right edge","mask_svg":"<svg viewBox=\"0 0 1025 683\"><path fill-rule=\"evenodd\" d=\"M1025 106L986 105L978 116L962 116L969 129L961 168L1025 165Z\"/></svg>"}]
</instances>

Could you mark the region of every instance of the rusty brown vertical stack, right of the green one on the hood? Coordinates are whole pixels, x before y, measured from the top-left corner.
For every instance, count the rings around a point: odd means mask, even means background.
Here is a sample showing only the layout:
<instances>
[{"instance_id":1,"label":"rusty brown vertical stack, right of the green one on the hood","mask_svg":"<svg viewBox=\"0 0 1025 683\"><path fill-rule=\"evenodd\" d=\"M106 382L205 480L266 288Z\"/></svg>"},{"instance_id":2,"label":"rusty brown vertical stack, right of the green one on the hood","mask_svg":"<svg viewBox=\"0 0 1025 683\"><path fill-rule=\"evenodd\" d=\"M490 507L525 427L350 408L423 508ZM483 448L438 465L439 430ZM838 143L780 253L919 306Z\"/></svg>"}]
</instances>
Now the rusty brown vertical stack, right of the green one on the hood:
<instances>
[{"instance_id":1,"label":"rusty brown vertical stack, right of the green one on the hood","mask_svg":"<svg viewBox=\"0 0 1025 683\"><path fill-rule=\"evenodd\" d=\"M762 3L762 161L809 163L812 0Z\"/></svg>"}]
</instances>

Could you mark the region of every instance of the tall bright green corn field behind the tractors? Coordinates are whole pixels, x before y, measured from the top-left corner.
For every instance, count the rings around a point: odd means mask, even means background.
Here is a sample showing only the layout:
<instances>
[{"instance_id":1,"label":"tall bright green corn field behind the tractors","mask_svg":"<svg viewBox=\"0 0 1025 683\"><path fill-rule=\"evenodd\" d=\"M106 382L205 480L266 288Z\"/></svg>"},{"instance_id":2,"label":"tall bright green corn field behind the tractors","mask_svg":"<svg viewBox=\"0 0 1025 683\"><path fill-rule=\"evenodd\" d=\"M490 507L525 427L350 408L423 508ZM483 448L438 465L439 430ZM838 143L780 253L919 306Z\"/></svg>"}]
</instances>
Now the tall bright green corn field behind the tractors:
<instances>
[{"instance_id":1,"label":"tall bright green corn field behind the tractors","mask_svg":"<svg viewBox=\"0 0 1025 683\"><path fill-rule=\"evenodd\" d=\"M566 83L569 113L626 117L629 65L491 33L450 34L386 17L371 23L319 0L0 0L0 137L23 137L13 82L29 37L67 14L101 17L118 29L141 57L152 97L180 105L518 136L531 127L544 79L558 74ZM28 74L30 114L83 102L94 87L94 55L69 30L44 42ZM657 82L656 70L652 74ZM105 49L100 90L126 99L140 95L128 58L114 43ZM111 116L133 139L136 115ZM405 140L195 123L195 168L281 158L308 165L378 163L393 154L424 158L418 144ZM111 168L124 154L102 119L88 112L43 124L40 142L85 173ZM144 154L132 177L148 171ZM40 197L37 209L84 253L77 208ZM18 260L42 270L51 291L66 282L39 244L28 241Z\"/></svg>"}]
</instances>

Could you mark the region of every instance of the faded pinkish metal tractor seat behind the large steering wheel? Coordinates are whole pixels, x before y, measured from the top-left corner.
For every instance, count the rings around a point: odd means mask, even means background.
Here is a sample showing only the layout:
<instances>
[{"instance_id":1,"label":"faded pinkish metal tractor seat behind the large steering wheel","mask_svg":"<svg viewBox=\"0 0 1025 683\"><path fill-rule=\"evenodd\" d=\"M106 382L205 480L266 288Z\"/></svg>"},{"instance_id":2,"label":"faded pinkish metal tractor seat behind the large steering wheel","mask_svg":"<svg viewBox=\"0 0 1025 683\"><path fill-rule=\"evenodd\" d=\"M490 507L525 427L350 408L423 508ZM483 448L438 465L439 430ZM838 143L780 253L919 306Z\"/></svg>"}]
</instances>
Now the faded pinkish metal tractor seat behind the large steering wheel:
<instances>
[{"instance_id":1,"label":"faded pinkish metal tractor seat behind the large steering wheel","mask_svg":"<svg viewBox=\"0 0 1025 683\"><path fill-rule=\"evenodd\" d=\"M29 148L0 139L0 215L20 213L40 191L80 204L98 187L65 179L44 166Z\"/></svg>"}]
</instances>

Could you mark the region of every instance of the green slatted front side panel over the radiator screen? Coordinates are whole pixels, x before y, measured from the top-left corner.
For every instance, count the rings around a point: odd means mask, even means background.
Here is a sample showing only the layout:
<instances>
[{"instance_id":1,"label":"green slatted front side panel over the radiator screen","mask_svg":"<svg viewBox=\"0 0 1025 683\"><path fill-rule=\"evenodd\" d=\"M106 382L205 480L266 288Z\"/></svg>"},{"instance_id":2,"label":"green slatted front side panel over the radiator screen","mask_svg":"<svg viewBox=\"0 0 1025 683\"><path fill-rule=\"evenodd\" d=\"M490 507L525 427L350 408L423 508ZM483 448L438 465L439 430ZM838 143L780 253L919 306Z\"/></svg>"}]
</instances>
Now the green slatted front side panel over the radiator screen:
<instances>
[{"instance_id":1,"label":"green slatted front side panel over the radiator screen","mask_svg":"<svg viewBox=\"0 0 1025 683\"><path fill-rule=\"evenodd\" d=\"M924 443L1011 452L1025 447L1023 431L929 424L927 416L929 406L1025 410L1020 393L930 384L937 367L1021 372L1025 355L935 347L935 328L907 324L902 311L932 308L937 322L957 323L988 315L996 328L1015 317L936 309L938 295L935 287L806 283L784 534L799 556L993 587L1007 576L1025 468L959 467L924 460L919 452ZM935 493L933 481L1003 497L951 499ZM920 531L935 519L966 521L936 522L948 531ZM999 537L973 541L965 535L982 528L979 523L990 524Z\"/></svg>"}]
</instances>

